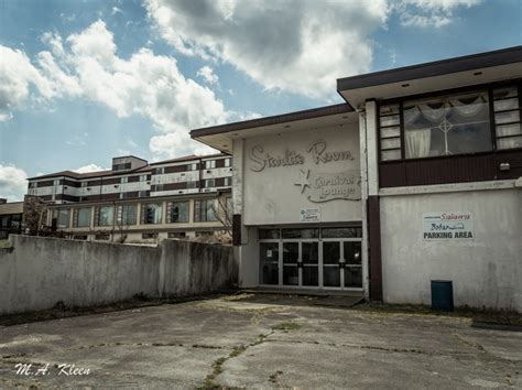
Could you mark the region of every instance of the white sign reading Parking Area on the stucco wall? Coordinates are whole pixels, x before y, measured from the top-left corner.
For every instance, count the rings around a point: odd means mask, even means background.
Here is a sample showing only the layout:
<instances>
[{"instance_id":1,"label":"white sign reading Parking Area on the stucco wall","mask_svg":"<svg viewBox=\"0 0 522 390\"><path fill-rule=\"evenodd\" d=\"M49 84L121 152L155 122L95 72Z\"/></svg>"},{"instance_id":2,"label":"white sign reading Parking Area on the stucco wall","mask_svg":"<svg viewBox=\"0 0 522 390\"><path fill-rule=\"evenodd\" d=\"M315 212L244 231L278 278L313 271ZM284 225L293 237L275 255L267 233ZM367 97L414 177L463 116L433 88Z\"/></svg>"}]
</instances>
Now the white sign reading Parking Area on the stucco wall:
<instances>
[{"instance_id":1,"label":"white sign reading Parking Area on the stucco wall","mask_svg":"<svg viewBox=\"0 0 522 390\"><path fill-rule=\"evenodd\" d=\"M475 238L471 213L434 212L422 215L423 240L472 240Z\"/></svg>"}]
</instances>

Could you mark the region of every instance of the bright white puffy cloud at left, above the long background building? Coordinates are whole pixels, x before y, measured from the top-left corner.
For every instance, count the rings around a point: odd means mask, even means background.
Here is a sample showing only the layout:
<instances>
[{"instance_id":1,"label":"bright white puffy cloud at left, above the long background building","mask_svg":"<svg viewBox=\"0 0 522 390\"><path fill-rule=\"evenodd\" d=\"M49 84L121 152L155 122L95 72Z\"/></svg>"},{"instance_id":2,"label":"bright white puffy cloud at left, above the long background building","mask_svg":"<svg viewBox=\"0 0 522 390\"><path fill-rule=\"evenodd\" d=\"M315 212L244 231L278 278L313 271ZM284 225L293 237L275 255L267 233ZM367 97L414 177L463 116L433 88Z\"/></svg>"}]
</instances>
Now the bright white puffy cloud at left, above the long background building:
<instances>
[{"instance_id":1,"label":"bright white puffy cloud at left, above the long background building","mask_svg":"<svg viewBox=\"0 0 522 390\"><path fill-rule=\"evenodd\" d=\"M172 142L151 141L154 153L171 158L198 147L187 134L191 128L226 122L229 117L214 91L186 78L174 57L149 48L129 59L119 57L102 21L65 40L45 33L42 41L51 51L39 53L34 64L23 52L0 46L0 120L10 119L31 96L43 104L81 97L119 117L150 118L161 134L175 133L175 149L168 147Z\"/></svg>"}]
</instances>

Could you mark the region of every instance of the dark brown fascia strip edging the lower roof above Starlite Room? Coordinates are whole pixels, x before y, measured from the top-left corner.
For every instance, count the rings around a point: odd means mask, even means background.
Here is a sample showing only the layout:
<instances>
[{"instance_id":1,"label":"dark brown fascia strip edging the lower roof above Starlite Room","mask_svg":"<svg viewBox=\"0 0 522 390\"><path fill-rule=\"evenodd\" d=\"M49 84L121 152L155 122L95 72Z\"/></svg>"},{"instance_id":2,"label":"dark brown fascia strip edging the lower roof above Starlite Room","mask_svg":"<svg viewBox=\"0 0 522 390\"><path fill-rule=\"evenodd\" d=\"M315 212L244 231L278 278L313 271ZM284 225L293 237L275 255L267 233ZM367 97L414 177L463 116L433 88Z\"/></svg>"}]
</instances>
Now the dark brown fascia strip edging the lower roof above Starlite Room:
<instances>
[{"instance_id":1,"label":"dark brown fascia strip edging the lower roof above Starlite Room","mask_svg":"<svg viewBox=\"0 0 522 390\"><path fill-rule=\"evenodd\" d=\"M233 123L213 126L208 128L194 129L194 130L191 130L191 137L198 138L198 137L204 137L204 136L219 134L224 132L246 130L246 129L259 128L263 126L279 124L279 123L292 122L296 120L313 119L313 118L326 117L329 115L352 112L352 111L354 109L349 105L347 105L346 102L342 102L342 104L334 105L334 106L326 106L326 107L313 108L309 110L276 115L273 117L251 119L251 120L246 120L242 122L233 122Z\"/></svg>"}]
</instances>

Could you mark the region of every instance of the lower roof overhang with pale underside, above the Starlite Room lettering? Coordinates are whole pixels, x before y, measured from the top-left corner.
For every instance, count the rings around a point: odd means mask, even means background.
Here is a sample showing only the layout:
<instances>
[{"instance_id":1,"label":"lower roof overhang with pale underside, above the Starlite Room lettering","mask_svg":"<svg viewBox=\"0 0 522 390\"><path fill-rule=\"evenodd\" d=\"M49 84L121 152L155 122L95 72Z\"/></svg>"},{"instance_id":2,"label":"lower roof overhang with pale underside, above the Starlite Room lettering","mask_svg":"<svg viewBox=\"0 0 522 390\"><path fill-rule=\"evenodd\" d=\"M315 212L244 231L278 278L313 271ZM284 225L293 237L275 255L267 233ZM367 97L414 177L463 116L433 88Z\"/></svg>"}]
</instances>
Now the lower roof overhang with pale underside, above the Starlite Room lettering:
<instances>
[{"instance_id":1,"label":"lower roof overhang with pale underside, above the Starlite Room lettering","mask_svg":"<svg viewBox=\"0 0 522 390\"><path fill-rule=\"evenodd\" d=\"M214 126L191 131L191 137L224 153L232 153L235 139L281 134L300 130L355 123L358 115L347 104Z\"/></svg>"}]
</instances>

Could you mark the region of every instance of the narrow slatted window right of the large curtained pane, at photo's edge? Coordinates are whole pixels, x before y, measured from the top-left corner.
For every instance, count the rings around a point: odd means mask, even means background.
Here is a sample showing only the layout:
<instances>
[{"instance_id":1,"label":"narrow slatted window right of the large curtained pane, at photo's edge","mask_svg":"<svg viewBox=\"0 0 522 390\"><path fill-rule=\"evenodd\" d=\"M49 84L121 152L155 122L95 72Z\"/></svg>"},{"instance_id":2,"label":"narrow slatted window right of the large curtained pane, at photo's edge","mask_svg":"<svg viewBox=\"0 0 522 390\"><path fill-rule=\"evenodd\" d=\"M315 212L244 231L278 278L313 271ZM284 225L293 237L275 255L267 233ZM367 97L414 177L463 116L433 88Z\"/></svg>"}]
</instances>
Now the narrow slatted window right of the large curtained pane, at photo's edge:
<instances>
[{"instance_id":1,"label":"narrow slatted window right of the large curtained pane, at photo's edge","mask_svg":"<svg viewBox=\"0 0 522 390\"><path fill-rule=\"evenodd\" d=\"M493 90L497 149L522 148L520 94L516 87Z\"/></svg>"}]
</instances>

